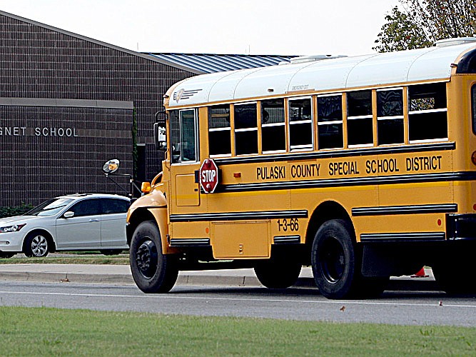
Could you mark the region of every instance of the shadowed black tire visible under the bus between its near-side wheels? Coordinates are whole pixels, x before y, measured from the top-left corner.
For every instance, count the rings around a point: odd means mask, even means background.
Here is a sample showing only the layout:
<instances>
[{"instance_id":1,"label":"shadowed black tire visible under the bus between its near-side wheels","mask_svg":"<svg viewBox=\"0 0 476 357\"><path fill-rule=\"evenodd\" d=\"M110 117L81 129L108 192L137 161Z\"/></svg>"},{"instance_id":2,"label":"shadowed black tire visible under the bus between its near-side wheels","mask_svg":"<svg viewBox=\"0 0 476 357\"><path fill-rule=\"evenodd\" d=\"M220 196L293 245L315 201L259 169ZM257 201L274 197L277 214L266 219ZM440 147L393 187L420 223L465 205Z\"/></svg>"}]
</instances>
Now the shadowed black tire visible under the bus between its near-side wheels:
<instances>
[{"instance_id":1,"label":"shadowed black tire visible under the bus between its near-side wheels","mask_svg":"<svg viewBox=\"0 0 476 357\"><path fill-rule=\"evenodd\" d=\"M276 252L270 259L256 263L255 274L267 288L289 288L298 281L302 267L297 258Z\"/></svg>"}]
</instances>

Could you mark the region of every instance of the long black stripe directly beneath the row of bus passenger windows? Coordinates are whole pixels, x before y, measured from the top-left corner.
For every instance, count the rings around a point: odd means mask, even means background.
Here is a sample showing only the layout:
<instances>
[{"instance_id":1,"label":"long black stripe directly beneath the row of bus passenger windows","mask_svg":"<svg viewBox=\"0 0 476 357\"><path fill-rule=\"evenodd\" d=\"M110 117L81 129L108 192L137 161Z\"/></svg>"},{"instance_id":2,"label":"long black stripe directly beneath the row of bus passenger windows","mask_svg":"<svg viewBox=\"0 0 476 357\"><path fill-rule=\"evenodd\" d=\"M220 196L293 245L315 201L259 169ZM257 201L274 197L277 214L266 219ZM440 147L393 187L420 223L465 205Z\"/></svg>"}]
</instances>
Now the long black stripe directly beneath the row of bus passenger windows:
<instances>
[{"instance_id":1,"label":"long black stripe directly beneath the row of bus passenger windows","mask_svg":"<svg viewBox=\"0 0 476 357\"><path fill-rule=\"evenodd\" d=\"M310 152L304 151L299 153L280 154L280 155L264 155L264 156L243 156L234 158L214 158L213 160L217 165L233 165L233 164L252 164L261 162L279 162L279 161L295 161L295 160L315 160L315 159L329 159L329 158L342 158L349 156L369 156L369 155L383 155L383 154L400 154L400 153L412 153L421 151L441 151L441 150L455 150L456 144L452 143L439 143L439 144L420 144L410 146L398 146L398 147L379 147L370 149L350 149L339 151L319 151Z\"/></svg>"}]
</instances>

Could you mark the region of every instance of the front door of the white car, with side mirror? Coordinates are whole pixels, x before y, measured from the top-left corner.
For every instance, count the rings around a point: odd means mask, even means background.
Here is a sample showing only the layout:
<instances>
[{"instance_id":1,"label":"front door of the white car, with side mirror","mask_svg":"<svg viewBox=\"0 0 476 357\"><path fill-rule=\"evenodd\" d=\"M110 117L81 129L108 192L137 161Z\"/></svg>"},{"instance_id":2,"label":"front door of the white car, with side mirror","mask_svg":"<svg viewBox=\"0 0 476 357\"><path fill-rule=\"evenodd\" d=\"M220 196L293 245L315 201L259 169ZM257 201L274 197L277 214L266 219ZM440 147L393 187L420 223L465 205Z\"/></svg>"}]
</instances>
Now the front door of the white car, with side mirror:
<instances>
[{"instance_id":1,"label":"front door of the white car, with side mirror","mask_svg":"<svg viewBox=\"0 0 476 357\"><path fill-rule=\"evenodd\" d=\"M91 248L101 246L101 202L86 198L75 203L56 220L56 246L58 248Z\"/></svg>"}]
</instances>

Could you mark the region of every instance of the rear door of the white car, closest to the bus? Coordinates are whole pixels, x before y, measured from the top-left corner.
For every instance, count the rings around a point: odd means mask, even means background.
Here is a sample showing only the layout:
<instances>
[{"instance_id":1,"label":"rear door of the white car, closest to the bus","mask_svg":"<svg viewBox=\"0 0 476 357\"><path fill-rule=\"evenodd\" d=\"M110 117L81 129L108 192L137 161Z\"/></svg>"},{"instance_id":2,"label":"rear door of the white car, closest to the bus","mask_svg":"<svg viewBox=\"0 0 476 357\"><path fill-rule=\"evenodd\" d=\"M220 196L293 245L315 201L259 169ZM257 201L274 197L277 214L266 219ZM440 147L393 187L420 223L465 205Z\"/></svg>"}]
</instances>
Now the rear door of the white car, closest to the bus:
<instances>
[{"instance_id":1,"label":"rear door of the white car, closest to the bus","mask_svg":"<svg viewBox=\"0 0 476 357\"><path fill-rule=\"evenodd\" d=\"M101 198L101 246L127 246L126 215L129 201L122 198Z\"/></svg>"}]
</instances>

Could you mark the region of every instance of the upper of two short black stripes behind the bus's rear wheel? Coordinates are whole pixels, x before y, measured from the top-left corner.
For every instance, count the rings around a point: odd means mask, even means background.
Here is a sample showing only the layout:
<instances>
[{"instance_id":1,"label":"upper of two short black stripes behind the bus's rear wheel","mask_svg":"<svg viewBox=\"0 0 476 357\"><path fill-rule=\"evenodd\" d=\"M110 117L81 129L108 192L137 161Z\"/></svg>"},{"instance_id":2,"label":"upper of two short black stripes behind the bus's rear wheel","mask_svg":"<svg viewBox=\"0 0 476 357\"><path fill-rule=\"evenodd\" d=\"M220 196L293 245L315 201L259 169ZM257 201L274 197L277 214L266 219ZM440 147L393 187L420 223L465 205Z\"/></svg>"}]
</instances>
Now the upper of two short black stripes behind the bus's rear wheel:
<instances>
[{"instance_id":1,"label":"upper of two short black stripes behind the bus's rear wheel","mask_svg":"<svg viewBox=\"0 0 476 357\"><path fill-rule=\"evenodd\" d=\"M355 207L352 208L353 216L381 216L389 214L413 213L454 213L457 212L456 203L422 204L414 206L381 206L381 207Z\"/></svg>"}]
</instances>

